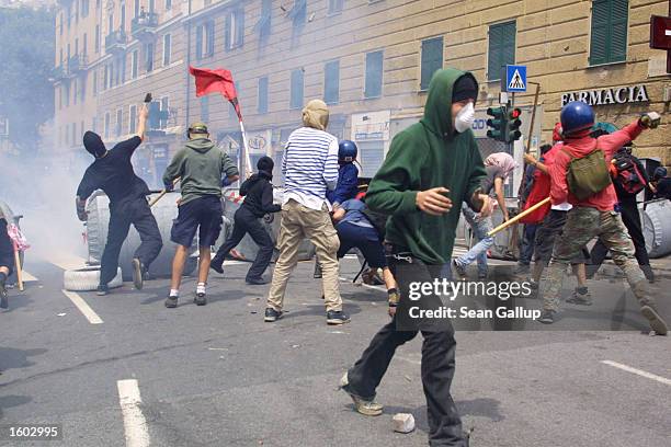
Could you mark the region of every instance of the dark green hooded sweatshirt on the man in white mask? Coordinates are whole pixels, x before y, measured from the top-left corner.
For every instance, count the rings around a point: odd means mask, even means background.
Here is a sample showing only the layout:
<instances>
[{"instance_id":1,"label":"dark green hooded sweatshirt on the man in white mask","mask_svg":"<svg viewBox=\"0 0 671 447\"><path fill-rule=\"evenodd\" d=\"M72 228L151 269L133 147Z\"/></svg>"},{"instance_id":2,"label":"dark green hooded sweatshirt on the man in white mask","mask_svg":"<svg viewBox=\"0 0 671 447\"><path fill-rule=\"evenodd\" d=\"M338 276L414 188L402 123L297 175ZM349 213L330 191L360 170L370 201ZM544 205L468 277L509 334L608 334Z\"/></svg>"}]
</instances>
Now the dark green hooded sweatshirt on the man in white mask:
<instances>
[{"instance_id":1,"label":"dark green hooded sweatshirt on the man in white mask","mask_svg":"<svg viewBox=\"0 0 671 447\"><path fill-rule=\"evenodd\" d=\"M486 175L473 130L458 134L452 125L452 89L463 76L474 78L455 69L435 72L424 117L394 137L366 193L371 209L390 216L386 239L427 264L450 261L462 202L470 199ZM452 209L442 216L420 211L417 193L439 186L450 190Z\"/></svg>"}]
</instances>

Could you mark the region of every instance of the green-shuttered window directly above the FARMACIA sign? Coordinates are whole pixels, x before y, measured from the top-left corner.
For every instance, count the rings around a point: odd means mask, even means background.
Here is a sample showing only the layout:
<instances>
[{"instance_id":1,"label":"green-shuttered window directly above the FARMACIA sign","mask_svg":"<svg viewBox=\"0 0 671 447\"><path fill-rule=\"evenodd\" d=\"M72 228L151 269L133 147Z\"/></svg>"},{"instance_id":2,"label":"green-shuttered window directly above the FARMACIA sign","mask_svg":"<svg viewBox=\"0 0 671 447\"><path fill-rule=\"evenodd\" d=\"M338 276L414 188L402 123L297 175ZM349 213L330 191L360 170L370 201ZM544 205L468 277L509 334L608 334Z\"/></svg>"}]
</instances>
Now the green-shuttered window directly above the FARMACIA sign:
<instances>
[{"instance_id":1,"label":"green-shuttered window directly above the FARMACIA sign","mask_svg":"<svg viewBox=\"0 0 671 447\"><path fill-rule=\"evenodd\" d=\"M590 65L622 62L627 59L627 0L592 1Z\"/></svg>"}]
</instances>

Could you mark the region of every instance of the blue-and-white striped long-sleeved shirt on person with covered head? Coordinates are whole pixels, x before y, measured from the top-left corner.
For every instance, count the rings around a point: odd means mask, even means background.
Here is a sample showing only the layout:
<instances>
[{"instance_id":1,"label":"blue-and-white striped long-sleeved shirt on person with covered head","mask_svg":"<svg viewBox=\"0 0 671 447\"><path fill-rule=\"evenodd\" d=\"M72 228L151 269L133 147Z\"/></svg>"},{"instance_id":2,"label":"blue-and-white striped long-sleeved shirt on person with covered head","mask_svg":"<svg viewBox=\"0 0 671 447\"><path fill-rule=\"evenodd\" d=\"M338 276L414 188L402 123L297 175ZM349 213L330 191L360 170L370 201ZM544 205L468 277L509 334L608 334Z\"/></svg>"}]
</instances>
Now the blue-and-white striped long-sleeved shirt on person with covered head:
<instances>
[{"instance_id":1,"label":"blue-and-white striped long-sleeved shirt on person with covered head","mask_svg":"<svg viewBox=\"0 0 671 447\"><path fill-rule=\"evenodd\" d=\"M321 210L327 190L338 182L338 139L323 130L302 127L292 133L282 158L284 203L289 198Z\"/></svg>"}]
</instances>

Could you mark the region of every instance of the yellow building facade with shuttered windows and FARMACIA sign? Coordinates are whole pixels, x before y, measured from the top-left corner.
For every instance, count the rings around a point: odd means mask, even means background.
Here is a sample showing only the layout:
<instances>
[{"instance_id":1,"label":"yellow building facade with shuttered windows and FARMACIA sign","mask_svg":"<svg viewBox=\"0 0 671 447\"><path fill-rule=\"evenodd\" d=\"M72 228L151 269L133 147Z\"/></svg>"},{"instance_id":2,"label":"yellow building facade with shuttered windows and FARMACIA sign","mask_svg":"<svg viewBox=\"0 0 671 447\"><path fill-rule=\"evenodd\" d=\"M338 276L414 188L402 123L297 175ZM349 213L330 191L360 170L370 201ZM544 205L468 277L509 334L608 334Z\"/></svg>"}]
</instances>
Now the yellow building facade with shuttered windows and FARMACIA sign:
<instances>
[{"instance_id":1,"label":"yellow building facade with shuttered windows and FARMACIA sign","mask_svg":"<svg viewBox=\"0 0 671 447\"><path fill-rule=\"evenodd\" d=\"M650 15L668 15L668 8L666 0L60 0L55 140L79 157L86 129L107 144L126 138L151 92L151 133L134 159L150 184L160 187L191 122L206 122L240 160L232 107L221 96L195 98L187 72L226 68L252 162L280 160L302 106L320 98L331 108L329 131L355 140L362 174L373 175L394 135L421 116L441 67L474 72L480 149L507 150L486 138L485 111L498 105L501 67L519 64L530 85L514 99L524 134L515 157L527 141L549 141L562 103L575 99L616 126L660 113L661 128L644 134L636 153L670 165L671 74L666 51L649 48ZM541 91L532 131L534 83Z\"/></svg>"}]
</instances>

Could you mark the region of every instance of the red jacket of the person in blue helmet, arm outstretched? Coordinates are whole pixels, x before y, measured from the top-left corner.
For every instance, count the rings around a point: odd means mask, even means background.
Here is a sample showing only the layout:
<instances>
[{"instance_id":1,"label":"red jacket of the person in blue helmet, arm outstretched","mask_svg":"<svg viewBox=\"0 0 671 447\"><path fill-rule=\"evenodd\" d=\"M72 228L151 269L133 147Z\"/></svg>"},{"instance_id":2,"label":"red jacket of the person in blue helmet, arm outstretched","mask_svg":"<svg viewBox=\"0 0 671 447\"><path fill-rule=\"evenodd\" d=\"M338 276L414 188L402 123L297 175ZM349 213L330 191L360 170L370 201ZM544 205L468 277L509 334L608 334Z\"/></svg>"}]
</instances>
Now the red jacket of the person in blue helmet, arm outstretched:
<instances>
[{"instance_id":1,"label":"red jacket of the person in blue helmet, arm outstretched","mask_svg":"<svg viewBox=\"0 0 671 447\"><path fill-rule=\"evenodd\" d=\"M637 119L621 130L596 138L599 149L603 150L605 153L606 163L610 165L611 159L617 149L619 149L627 141L634 141L634 139L640 135L642 129L644 127L638 124ZM590 137L588 133L584 133L584 135L578 138L565 140L564 145L569 152L573 154L573 157L580 158L594 150L594 138ZM617 196L615 195L613 184L610 184L602 192L596 193L584 200L579 200L568 191L568 185L566 182L567 167L570 161L570 157L562 150L559 150L556 152L554 161L555 162L548 167L551 179L550 197L553 205L562 204L568 199L568 202L573 206L596 208L600 211L613 210L615 204L617 203Z\"/></svg>"}]
</instances>

